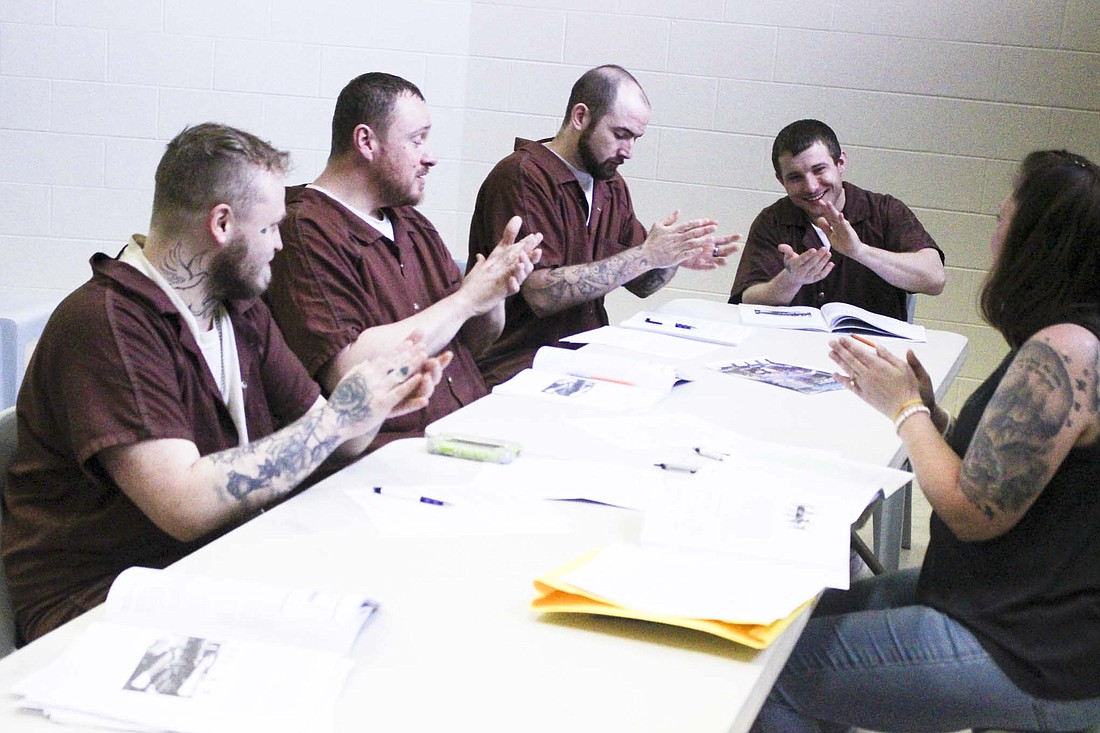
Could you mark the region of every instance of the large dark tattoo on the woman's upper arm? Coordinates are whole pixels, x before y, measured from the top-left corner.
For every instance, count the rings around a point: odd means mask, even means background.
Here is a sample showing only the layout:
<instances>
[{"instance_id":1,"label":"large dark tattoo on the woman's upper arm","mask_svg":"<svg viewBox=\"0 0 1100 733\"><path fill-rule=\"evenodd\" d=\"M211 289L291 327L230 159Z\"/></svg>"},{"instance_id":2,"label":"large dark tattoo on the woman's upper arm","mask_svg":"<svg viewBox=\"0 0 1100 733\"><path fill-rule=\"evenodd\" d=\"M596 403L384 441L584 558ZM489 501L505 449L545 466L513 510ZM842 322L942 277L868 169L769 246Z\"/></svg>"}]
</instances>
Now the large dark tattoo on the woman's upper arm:
<instances>
[{"instance_id":1,"label":"large dark tattoo on the woman's upper arm","mask_svg":"<svg viewBox=\"0 0 1100 733\"><path fill-rule=\"evenodd\" d=\"M959 475L963 493L990 519L1026 507L1053 467L1052 439L1074 419L1075 384L1049 344L1028 341L990 401Z\"/></svg>"}]
</instances>

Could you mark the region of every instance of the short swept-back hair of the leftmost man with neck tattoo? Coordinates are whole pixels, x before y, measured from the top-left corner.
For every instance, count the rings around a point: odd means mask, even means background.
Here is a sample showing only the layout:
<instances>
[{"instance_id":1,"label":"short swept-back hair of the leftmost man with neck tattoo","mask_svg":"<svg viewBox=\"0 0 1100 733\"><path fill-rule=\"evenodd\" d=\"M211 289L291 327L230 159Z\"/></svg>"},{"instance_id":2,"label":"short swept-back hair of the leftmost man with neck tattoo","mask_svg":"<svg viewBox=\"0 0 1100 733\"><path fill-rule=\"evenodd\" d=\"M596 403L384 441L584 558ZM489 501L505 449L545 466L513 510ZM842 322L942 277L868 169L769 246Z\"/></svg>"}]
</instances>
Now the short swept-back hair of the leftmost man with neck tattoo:
<instances>
[{"instance_id":1,"label":"short swept-back hair of the leftmost man with neck tattoo","mask_svg":"<svg viewBox=\"0 0 1100 733\"><path fill-rule=\"evenodd\" d=\"M172 231L219 204L248 210L256 198L256 172L282 175L288 164L286 151L243 130L216 122L185 128L156 166L153 222Z\"/></svg>"}]
</instances>

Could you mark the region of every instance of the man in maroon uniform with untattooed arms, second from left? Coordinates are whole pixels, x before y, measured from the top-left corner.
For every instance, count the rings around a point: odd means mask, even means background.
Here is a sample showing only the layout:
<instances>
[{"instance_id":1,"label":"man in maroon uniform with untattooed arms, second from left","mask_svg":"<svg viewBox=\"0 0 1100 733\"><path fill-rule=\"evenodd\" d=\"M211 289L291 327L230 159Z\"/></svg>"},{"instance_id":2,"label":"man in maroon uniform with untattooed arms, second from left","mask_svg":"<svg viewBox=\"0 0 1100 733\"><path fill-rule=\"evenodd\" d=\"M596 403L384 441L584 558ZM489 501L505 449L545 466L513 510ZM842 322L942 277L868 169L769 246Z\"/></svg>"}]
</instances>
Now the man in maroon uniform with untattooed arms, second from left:
<instances>
[{"instance_id":1,"label":"man in maroon uniform with untattooed arms, second from left","mask_svg":"<svg viewBox=\"0 0 1100 733\"><path fill-rule=\"evenodd\" d=\"M436 157L431 116L411 83L371 73L340 92L321 175L287 192L285 249L267 294L287 343L326 390L363 359L386 353L410 331L429 353L454 354L427 409L383 425L375 449L419 436L432 420L486 393L474 357L504 324L504 298L538 261L539 237L516 242L502 225L495 247L462 277L439 232L415 208Z\"/></svg>"}]
</instances>

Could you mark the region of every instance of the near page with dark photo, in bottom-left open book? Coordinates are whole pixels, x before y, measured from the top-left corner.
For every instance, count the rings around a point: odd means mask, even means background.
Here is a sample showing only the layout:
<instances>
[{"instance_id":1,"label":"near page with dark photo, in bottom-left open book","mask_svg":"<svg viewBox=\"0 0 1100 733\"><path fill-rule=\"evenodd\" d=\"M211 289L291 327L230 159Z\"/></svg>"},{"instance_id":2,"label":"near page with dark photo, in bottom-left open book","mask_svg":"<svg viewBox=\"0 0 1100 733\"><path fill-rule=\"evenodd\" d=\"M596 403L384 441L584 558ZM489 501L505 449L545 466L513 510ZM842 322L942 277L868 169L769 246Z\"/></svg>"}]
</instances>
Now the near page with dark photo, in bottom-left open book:
<instances>
[{"instance_id":1,"label":"near page with dark photo, in bottom-left open book","mask_svg":"<svg viewBox=\"0 0 1100 733\"><path fill-rule=\"evenodd\" d=\"M331 730L351 671L341 655L204 638L136 625L89 626L16 685L24 708L184 733Z\"/></svg>"}]
</instances>

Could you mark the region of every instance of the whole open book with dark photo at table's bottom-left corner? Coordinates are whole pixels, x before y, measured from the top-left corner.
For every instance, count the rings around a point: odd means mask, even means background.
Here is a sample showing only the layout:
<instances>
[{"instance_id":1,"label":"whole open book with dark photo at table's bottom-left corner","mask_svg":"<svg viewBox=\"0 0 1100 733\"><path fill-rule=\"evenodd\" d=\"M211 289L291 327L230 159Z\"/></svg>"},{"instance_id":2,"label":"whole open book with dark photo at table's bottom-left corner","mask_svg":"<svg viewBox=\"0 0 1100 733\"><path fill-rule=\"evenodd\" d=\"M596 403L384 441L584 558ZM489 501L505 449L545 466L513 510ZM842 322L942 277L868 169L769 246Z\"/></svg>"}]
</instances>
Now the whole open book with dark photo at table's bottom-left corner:
<instances>
[{"instance_id":1,"label":"whole open book with dark photo at table's bottom-left corner","mask_svg":"<svg viewBox=\"0 0 1100 733\"><path fill-rule=\"evenodd\" d=\"M324 730L370 599L130 568L105 620L18 683L64 722L207 733Z\"/></svg>"}]
</instances>

